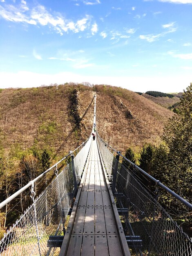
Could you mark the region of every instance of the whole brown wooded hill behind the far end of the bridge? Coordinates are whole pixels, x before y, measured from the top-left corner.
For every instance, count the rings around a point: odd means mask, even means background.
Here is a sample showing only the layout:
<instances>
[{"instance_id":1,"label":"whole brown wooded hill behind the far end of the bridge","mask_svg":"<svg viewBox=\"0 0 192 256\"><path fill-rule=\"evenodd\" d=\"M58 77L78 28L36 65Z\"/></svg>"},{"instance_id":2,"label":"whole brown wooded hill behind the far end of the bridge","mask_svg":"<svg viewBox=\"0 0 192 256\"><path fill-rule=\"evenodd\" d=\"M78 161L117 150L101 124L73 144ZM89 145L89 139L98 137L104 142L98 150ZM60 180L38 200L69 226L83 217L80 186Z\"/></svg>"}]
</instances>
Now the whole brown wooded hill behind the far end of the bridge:
<instances>
[{"instance_id":1,"label":"whole brown wooded hill behind the far end of the bridge","mask_svg":"<svg viewBox=\"0 0 192 256\"><path fill-rule=\"evenodd\" d=\"M17 155L31 147L47 148L63 155L76 148L91 132L95 92L98 132L111 146L125 152L161 140L170 110L123 88L66 83L1 90L1 150Z\"/></svg>"}]
</instances>

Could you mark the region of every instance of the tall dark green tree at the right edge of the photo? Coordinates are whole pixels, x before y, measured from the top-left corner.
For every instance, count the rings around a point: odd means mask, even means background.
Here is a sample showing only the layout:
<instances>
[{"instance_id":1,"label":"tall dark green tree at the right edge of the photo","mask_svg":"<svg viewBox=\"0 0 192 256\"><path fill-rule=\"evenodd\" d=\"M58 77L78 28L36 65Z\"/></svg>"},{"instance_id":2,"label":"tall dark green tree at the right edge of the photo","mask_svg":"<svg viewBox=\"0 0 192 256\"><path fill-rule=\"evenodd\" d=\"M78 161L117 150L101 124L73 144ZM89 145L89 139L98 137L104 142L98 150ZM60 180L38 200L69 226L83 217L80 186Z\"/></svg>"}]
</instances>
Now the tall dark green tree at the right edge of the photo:
<instances>
[{"instance_id":1,"label":"tall dark green tree at the right edge of the photo","mask_svg":"<svg viewBox=\"0 0 192 256\"><path fill-rule=\"evenodd\" d=\"M163 138L170 150L167 186L190 200L192 184L192 83L180 99L177 115L167 124Z\"/></svg>"}]
</instances>

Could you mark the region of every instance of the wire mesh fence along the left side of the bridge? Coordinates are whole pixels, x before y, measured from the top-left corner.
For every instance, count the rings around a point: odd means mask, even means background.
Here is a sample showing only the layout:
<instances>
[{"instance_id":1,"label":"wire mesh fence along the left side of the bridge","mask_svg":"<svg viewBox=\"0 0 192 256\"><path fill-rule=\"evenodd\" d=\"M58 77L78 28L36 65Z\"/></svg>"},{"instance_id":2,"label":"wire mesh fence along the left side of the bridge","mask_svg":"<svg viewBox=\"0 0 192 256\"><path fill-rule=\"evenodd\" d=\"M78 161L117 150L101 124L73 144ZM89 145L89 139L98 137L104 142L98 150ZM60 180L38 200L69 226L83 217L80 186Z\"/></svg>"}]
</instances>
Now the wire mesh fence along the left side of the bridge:
<instances>
[{"instance_id":1,"label":"wire mesh fence along the left side of the bridge","mask_svg":"<svg viewBox=\"0 0 192 256\"><path fill-rule=\"evenodd\" d=\"M58 173L56 178L20 216L0 241L0 256L58 255L50 236L65 233L69 209L75 196L74 178L80 177L86 163L92 138L76 152L74 159ZM73 173L76 173L76 176Z\"/></svg>"}]
</instances>

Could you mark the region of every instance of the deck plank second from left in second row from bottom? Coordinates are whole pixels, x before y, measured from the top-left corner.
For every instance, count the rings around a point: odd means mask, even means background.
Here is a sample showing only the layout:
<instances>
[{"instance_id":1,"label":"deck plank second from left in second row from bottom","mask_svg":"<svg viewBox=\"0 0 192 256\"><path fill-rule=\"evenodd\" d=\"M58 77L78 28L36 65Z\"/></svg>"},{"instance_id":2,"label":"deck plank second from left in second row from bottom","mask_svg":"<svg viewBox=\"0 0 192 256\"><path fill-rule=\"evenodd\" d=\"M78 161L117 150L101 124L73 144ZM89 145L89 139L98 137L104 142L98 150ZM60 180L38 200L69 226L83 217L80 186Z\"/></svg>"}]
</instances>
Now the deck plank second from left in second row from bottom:
<instances>
[{"instance_id":1,"label":"deck plank second from left in second row from bottom","mask_svg":"<svg viewBox=\"0 0 192 256\"><path fill-rule=\"evenodd\" d=\"M95 208L86 207L83 233L93 235L95 231Z\"/></svg>"}]
</instances>

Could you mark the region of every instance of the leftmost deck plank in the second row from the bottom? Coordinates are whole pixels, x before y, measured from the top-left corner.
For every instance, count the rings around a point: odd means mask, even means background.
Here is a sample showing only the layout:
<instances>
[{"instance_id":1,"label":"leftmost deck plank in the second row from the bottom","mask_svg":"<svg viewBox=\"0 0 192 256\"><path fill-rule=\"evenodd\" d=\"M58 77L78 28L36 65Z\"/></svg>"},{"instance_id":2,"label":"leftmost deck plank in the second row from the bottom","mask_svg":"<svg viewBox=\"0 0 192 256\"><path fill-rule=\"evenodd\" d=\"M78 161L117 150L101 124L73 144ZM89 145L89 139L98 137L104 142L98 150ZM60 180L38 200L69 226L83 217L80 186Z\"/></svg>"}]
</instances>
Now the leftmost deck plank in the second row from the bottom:
<instances>
[{"instance_id":1,"label":"leftmost deck plank in the second row from the bottom","mask_svg":"<svg viewBox=\"0 0 192 256\"><path fill-rule=\"evenodd\" d=\"M72 234L83 234L86 207L78 207Z\"/></svg>"}]
</instances>

